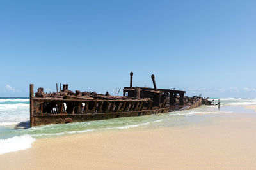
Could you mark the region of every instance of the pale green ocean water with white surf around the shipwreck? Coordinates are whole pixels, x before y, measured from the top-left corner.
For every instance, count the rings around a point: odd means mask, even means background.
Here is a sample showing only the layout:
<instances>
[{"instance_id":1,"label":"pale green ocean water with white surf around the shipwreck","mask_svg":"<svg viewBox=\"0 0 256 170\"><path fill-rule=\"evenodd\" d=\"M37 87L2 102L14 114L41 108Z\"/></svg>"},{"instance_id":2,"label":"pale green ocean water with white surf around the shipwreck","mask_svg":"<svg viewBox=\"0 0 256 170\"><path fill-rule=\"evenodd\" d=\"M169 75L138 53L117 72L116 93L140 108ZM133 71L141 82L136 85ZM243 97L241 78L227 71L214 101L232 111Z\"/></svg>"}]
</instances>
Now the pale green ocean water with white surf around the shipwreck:
<instances>
[{"instance_id":1,"label":"pale green ocean water with white surf around the shipwreck","mask_svg":"<svg viewBox=\"0 0 256 170\"><path fill-rule=\"evenodd\" d=\"M212 100L212 99L211 99ZM215 99L217 102L218 99ZM196 125L205 117L233 113L228 106L256 104L256 99L221 99L218 106L201 106L188 111L177 111L142 117L115 118L73 124L54 124L29 128L29 98L0 98L0 154L24 150L39 138L72 135L97 131L124 131L130 128L176 127Z\"/></svg>"}]
</instances>

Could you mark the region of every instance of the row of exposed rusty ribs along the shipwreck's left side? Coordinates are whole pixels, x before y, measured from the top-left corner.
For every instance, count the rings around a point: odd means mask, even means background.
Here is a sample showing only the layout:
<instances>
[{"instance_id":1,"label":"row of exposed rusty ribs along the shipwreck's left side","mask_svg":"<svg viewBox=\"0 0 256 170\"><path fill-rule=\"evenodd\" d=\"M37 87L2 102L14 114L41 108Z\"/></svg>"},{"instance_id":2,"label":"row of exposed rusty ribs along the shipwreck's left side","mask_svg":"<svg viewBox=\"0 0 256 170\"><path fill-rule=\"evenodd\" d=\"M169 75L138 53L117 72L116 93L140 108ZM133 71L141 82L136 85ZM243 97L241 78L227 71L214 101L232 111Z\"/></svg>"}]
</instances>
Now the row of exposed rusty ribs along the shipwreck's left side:
<instances>
[{"instance_id":1,"label":"row of exposed rusty ribs along the shipwreck's left side","mask_svg":"<svg viewBox=\"0 0 256 170\"><path fill-rule=\"evenodd\" d=\"M145 105L150 106L152 101L35 101L35 113L44 114L81 114L81 113L108 113L123 111L138 111Z\"/></svg>"}]
</instances>

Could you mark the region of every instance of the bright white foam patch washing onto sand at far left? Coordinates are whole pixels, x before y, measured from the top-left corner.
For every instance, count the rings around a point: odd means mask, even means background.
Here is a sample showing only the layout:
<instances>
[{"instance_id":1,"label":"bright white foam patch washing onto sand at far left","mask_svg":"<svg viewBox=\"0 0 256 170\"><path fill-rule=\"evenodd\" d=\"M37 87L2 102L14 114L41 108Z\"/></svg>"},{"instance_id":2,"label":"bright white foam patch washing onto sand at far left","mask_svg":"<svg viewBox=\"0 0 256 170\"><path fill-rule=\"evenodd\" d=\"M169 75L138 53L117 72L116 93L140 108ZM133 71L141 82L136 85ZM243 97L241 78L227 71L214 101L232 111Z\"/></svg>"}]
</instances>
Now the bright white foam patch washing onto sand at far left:
<instances>
[{"instance_id":1,"label":"bright white foam patch washing onto sand at far left","mask_svg":"<svg viewBox=\"0 0 256 170\"><path fill-rule=\"evenodd\" d=\"M31 148L31 143L33 143L35 140L35 138L29 136L28 134L14 136L8 139L0 139L0 155L7 152Z\"/></svg>"}]
</instances>

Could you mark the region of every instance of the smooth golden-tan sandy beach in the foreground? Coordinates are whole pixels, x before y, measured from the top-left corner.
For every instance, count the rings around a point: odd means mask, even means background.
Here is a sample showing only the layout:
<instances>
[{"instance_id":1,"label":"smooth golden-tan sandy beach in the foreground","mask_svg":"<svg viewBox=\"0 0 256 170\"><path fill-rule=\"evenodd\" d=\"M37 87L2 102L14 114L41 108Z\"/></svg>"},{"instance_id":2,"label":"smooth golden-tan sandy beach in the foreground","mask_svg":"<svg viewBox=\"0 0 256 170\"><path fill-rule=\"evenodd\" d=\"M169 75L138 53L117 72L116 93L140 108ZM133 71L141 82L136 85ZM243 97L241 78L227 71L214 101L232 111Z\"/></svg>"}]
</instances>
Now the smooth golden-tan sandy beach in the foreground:
<instances>
[{"instance_id":1,"label":"smooth golden-tan sandy beach in the foreground","mask_svg":"<svg viewBox=\"0 0 256 170\"><path fill-rule=\"evenodd\" d=\"M256 106L253 106L256 108ZM0 155L0 169L255 169L256 116L37 139Z\"/></svg>"}]
</instances>

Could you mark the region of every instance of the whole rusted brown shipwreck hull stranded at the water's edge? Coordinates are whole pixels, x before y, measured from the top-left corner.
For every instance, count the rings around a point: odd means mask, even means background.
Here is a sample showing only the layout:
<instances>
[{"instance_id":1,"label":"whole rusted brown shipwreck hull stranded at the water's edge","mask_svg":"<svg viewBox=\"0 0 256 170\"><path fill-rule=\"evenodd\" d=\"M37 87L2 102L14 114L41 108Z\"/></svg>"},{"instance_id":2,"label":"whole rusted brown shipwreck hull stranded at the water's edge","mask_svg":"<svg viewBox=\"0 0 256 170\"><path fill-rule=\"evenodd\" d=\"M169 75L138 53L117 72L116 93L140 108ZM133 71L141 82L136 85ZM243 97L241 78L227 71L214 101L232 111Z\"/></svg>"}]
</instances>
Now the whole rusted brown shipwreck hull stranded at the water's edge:
<instances>
[{"instance_id":1,"label":"whole rusted brown shipwreck hull stranded at the water's edge","mask_svg":"<svg viewBox=\"0 0 256 170\"><path fill-rule=\"evenodd\" d=\"M123 96L110 96L96 92L72 92L68 85L49 94L40 87L35 93L30 85L30 126L84 122L119 117L132 117L188 110L204 104L202 97L185 97L185 91L157 89L154 75L154 88L133 87L130 73L130 87L124 87ZM178 96L179 94L179 96Z\"/></svg>"}]
</instances>

